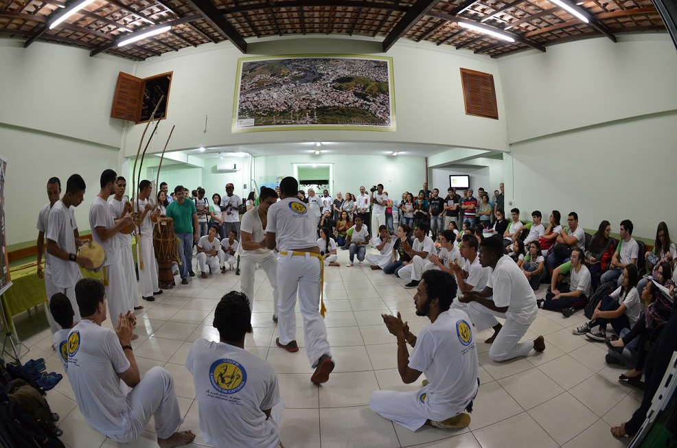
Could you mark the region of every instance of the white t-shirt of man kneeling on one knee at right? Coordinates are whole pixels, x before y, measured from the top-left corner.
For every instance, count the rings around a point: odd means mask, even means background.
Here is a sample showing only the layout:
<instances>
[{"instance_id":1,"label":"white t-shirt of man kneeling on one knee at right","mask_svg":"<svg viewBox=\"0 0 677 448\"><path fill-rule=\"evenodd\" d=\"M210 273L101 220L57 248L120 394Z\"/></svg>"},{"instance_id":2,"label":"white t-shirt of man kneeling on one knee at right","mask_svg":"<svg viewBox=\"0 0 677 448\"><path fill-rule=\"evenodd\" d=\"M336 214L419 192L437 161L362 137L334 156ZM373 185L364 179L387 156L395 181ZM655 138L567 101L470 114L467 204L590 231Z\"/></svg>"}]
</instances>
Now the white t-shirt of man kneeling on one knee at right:
<instances>
[{"instance_id":1,"label":"white t-shirt of man kneeling on one knee at right","mask_svg":"<svg viewBox=\"0 0 677 448\"><path fill-rule=\"evenodd\" d=\"M498 259L487 286L494 290L496 307L508 307L505 316L522 325L531 325L536 319L536 296L527 277L512 258L503 255Z\"/></svg>"}]
</instances>

